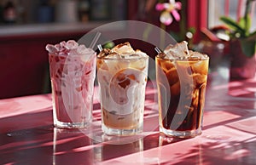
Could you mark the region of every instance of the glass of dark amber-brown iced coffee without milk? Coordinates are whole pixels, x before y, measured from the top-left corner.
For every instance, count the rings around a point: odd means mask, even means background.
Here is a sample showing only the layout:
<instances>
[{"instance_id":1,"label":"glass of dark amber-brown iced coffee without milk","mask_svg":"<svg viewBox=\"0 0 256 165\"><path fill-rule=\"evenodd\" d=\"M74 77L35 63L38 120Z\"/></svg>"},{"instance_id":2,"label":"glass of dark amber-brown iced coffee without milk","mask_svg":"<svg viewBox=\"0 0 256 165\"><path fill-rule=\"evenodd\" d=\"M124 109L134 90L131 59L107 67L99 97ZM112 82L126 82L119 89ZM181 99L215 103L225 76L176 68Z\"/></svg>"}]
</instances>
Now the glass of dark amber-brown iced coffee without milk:
<instances>
[{"instance_id":1,"label":"glass of dark amber-brown iced coffee without milk","mask_svg":"<svg viewBox=\"0 0 256 165\"><path fill-rule=\"evenodd\" d=\"M201 134L209 57L169 45L156 58L160 132L179 138Z\"/></svg>"}]
</instances>

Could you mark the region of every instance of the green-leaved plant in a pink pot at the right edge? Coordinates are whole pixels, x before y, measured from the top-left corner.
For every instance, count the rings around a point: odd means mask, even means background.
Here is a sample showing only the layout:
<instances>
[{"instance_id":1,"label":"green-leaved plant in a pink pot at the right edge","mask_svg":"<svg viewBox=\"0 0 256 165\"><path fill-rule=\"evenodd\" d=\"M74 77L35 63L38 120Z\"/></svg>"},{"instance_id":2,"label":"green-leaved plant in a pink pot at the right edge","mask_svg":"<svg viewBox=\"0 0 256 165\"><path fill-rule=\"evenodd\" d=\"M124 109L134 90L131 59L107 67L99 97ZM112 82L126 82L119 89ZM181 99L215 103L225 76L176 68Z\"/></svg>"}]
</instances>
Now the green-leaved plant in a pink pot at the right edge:
<instances>
[{"instance_id":1,"label":"green-leaved plant in a pink pot at the right edge","mask_svg":"<svg viewBox=\"0 0 256 165\"><path fill-rule=\"evenodd\" d=\"M256 31L250 31L252 26L251 10L253 1L256 0L247 0L245 14L238 21L227 16L220 17L220 20L229 27L231 55L230 79L255 77Z\"/></svg>"}]
</instances>

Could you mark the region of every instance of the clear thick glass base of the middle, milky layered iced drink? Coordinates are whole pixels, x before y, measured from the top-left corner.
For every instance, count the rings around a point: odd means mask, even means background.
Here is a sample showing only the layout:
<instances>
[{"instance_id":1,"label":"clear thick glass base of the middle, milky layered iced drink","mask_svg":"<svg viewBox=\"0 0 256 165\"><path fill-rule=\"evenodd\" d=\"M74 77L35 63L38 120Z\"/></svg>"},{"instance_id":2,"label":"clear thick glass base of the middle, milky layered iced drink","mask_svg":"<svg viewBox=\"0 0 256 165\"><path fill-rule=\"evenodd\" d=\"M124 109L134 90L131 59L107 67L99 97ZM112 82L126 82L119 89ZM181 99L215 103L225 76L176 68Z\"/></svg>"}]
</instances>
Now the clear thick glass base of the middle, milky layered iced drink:
<instances>
[{"instance_id":1,"label":"clear thick glass base of the middle, milky layered iced drink","mask_svg":"<svg viewBox=\"0 0 256 165\"><path fill-rule=\"evenodd\" d=\"M134 134L140 134L143 132L143 126L139 128L133 128L133 129L124 129L124 128L108 128L104 124L102 124L102 131L105 134L109 135L118 135L118 136L125 136L125 135L134 135Z\"/></svg>"}]
</instances>

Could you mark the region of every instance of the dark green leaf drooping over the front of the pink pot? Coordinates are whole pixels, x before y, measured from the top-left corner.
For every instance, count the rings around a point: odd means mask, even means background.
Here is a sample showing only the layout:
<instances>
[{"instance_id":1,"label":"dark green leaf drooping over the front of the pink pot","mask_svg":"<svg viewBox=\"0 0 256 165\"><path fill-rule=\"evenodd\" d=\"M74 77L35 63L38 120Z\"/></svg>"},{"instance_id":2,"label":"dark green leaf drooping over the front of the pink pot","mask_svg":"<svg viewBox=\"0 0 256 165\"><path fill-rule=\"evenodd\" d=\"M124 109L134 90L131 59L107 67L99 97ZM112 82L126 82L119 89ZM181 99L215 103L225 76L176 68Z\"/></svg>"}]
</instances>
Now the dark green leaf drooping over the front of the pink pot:
<instances>
[{"instance_id":1,"label":"dark green leaf drooping over the front of the pink pot","mask_svg":"<svg viewBox=\"0 0 256 165\"><path fill-rule=\"evenodd\" d=\"M245 54L247 57L253 57L253 55L256 53L256 40L241 40L241 50L242 53Z\"/></svg>"}]
</instances>

